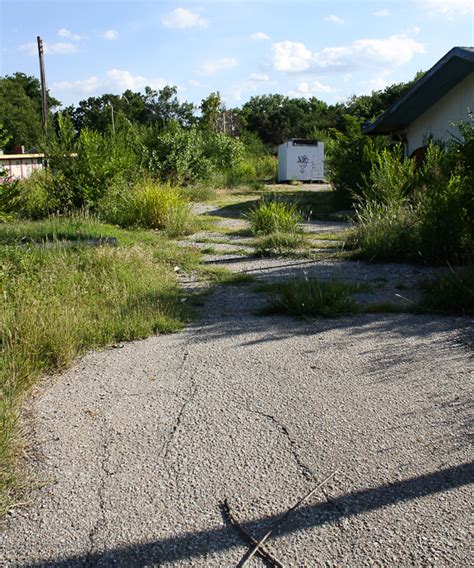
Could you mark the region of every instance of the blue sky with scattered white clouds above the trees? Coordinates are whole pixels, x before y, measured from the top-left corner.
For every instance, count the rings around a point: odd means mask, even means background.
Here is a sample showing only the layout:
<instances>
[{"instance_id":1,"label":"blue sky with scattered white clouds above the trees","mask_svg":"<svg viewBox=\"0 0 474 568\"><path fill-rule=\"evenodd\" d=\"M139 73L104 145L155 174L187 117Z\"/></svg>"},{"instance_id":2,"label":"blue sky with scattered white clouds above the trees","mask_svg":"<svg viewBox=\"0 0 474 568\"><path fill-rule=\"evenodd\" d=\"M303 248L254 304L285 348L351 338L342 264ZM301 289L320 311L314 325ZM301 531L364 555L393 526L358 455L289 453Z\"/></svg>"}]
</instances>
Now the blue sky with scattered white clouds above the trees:
<instances>
[{"instance_id":1,"label":"blue sky with scattered white clouds above the trees","mask_svg":"<svg viewBox=\"0 0 474 568\"><path fill-rule=\"evenodd\" d=\"M39 77L64 106L176 85L199 105L281 93L336 103L474 46L472 0L0 0L0 75Z\"/></svg>"}]
</instances>

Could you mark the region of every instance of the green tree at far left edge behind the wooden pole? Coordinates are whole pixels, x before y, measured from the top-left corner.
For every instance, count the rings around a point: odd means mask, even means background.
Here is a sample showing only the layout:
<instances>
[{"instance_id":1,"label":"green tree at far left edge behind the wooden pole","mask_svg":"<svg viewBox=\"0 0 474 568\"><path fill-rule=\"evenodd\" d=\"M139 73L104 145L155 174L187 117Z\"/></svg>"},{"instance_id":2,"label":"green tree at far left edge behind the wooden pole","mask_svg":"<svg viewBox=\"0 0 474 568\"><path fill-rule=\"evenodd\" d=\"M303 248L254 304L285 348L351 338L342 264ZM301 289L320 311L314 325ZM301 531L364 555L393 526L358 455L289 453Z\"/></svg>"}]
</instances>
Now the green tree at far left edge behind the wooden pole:
<instances>
[{"instance_id":1,"label":"green tree at far left edge behind the wooden pole","mask_svg":"<svg viewBox=\"0 0 474 568\"><path fill-rule=\"evenodd\" d=\"M49 96L50 110L59 101ZM41 85L38 79L24 73L6 75L0 79L0 122L10 136L5 150L15 146L38 147L43 138L41 123Z\"/></svg>"}]
</instances>

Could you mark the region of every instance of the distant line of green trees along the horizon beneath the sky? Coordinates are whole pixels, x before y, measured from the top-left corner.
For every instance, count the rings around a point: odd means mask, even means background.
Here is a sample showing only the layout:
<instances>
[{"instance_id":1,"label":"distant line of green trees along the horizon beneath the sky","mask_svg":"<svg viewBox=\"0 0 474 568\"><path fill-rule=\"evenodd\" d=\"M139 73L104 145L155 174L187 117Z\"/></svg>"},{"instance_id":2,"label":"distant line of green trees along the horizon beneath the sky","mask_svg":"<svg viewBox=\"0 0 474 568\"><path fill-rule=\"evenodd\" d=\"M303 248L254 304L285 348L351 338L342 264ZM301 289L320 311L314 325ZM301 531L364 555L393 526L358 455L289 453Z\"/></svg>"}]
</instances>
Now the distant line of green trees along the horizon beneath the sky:
<instances>
[{"instance_id":1,"label":"distant line of green trees along the horizon beneath the sky","mask_svg":"<svg viewBox=\"0 0 474 568\"><path fill-rule=\"evenodd\" d=\"M160 90L145 87L121 95L104 94L60 109L48 93L49 123L57 128L58 114L68 115L76 133L94 130L106 133L124 123L166 129L175 124L189 129L224 133L247 139L257 137L269 150L289 138L324 137L330 129L346 131L347 115L374 120L419 79L397 83L370 95L352 96L343 103L327 104L316 97L291 98L282 94L253 96L241 107L227 108L220 94L211 93L200 105L181 102L175 86ZM28 150L42 146L41 86L36 77L14 73L0 78L0 126L4 150L23 145Z\"/></svg>"}]
</instances>

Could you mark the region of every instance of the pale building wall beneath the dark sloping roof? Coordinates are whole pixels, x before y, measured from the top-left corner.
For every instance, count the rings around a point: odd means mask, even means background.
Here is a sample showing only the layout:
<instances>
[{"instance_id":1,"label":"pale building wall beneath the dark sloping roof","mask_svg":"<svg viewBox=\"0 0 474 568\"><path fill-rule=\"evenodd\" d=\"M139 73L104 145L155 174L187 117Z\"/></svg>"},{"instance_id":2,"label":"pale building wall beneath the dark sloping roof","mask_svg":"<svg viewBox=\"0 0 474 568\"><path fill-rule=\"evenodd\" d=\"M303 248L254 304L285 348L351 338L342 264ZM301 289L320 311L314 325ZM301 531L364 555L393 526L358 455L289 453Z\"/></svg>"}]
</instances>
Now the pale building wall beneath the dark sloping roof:
<instances>
[{"instance_id":1,"label":"pale building wall beneath the dark sloping roof","mask_svg":"<svg viewBox=\"0 0 474 568\"><path fill-rule=\"evenodd\" d=\"M447 142L458 137L459 130L452 123L466 120L468 109L474 112L474 72L410 124L407 155L411 156L415 150L426 146L430 138Z\"/></svg>"}]
</instances>

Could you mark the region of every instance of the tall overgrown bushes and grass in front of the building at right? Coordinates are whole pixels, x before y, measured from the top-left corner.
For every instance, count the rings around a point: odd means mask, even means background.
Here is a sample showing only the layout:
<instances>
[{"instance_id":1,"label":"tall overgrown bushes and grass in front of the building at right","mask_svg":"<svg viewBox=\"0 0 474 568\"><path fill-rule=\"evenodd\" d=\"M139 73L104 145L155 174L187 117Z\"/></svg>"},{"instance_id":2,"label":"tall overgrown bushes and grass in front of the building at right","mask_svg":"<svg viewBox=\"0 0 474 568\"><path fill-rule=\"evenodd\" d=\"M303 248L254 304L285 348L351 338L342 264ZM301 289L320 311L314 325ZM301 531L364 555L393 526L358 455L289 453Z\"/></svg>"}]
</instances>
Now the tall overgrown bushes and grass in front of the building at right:
<instances>
[{"instance_id":1,"label":"tall overgrown bushes and grass in front of the building at right","mask_svg":"<svg viewBox=\"0 0 474 568\"><path fill-rule=\"evenodd\" d=\"M424 163L383 149L360 186L358 254L370 260L472 262L474 253L474 126L463 140L431 142Z\"/></svg>"}]
</instances>

